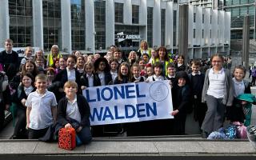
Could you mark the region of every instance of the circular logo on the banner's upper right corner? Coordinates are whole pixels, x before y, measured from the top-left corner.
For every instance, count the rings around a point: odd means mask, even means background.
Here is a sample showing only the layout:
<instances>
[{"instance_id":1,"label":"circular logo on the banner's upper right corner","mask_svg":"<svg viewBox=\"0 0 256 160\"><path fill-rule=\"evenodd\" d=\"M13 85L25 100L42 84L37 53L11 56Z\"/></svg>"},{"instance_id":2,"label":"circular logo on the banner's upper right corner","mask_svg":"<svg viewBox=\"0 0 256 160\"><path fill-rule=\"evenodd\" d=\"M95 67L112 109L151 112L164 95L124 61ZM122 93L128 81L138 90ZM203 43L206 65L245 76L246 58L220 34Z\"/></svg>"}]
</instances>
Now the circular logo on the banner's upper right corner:
<instances>
[{"instance_id":1,"label":"circular logo on the banner's upper right corner","mask_svg":"<svg viewBox=\"0 0 256 160\"><path fill-rule=\"evenodd\" d=\"M161 102L165 100L168 94L168 86L163 82L155 82L150 86L150 97L155 101Z\"/></svg>"}]
</instances>

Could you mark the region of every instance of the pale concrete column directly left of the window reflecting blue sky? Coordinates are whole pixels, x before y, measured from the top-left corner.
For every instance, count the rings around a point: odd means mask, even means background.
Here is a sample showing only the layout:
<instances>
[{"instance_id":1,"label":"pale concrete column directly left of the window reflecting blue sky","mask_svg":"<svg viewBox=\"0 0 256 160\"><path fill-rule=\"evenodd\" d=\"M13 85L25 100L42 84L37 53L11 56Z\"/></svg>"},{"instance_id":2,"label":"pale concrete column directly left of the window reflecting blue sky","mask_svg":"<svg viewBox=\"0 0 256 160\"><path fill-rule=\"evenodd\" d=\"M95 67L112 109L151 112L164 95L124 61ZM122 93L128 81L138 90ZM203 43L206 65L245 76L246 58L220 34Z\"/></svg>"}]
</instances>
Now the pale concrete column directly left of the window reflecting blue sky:
<instances>
[{"instance_id":1,"label":"pale concrete column directly left of the window reflecting blue sky","mask_svg":"<svg viewBox=\"0 0 256 160\"><path fill-rule=\"evenodd\" d=\"M70 0L62 0L62 51L71 53L71 7Z\"/></svg>"}]
</instances>

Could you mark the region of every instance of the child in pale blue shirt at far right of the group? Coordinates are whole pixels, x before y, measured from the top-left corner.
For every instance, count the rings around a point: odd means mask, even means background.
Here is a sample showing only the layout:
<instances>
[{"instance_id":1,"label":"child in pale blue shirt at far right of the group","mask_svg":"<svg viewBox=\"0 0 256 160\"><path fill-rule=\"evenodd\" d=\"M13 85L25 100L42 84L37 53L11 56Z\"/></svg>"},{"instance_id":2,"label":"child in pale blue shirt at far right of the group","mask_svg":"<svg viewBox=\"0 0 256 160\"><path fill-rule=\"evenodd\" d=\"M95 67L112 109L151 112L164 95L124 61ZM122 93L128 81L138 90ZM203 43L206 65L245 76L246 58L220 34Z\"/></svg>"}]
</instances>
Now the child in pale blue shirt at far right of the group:
<instances>
[{"instance_id":1,"label":"child in pale blue shirt at far right of the group","mask_svg":"<svg viewBox=\"0 0 256 160\"><path fill-rule=\"evenodd\" d=\"M232 106L227 108L227 119L230 122L244 123L245 114L243 113L243 106L245 101L239 100L237 97L241 94L250 94L250 83L244 78L246 76L246 68L244 66L235 66L233 72L234 78L234 100Z\"/></svg>"}]
</instances>

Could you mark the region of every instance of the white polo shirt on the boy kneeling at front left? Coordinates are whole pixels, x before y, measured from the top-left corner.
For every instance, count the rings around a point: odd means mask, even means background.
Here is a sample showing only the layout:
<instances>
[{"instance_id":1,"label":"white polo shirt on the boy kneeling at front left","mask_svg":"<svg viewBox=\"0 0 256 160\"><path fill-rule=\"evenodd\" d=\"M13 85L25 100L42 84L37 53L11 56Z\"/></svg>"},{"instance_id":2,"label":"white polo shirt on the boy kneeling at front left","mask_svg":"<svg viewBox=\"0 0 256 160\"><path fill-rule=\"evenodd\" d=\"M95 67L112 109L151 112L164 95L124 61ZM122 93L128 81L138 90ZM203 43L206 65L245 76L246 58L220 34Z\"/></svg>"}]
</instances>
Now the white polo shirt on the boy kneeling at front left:
<instances>
[{"instance_id":1,"label":"white polo shirt on the boy kneeling at front left","mask_svg":"<svg viewBox=\"0 0 256 160\"><path fill-rule=\"evenodd\" d=\"M29 126L31 129L41 130L53 124L51 107L57 106L54 93L48 90L45 94L38 94L38 91L31 92L25 106L31 107Z\"/></svg>"}]
</instances>

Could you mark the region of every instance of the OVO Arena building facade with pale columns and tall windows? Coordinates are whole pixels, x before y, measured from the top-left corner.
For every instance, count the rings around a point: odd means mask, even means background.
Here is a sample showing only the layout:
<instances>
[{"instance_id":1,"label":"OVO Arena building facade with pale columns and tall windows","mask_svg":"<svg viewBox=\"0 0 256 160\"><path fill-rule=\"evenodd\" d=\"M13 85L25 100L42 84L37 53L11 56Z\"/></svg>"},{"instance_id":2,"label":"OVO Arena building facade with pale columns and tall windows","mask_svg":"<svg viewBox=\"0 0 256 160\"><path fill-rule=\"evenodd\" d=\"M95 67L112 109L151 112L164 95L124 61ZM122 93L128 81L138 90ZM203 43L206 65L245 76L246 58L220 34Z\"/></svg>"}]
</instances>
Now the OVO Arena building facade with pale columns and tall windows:
<instances>
[{"instance_id":1,"label":"OVO Arena building facade with pale columns and tall windows","mask_svg":"<svg viewBox=\"0 0 256 160\"><path fill-rule=\"evenodd\" d=\"M166 46L178 52L180 2L166 0L2 0L0 41L14 46L85 53L116 45L138 50L146 39L150 47ZM205 3L204 3L205 4ZM189 3L190 58L229 52L230 13Z\"/></svg>"}]
</instances>

